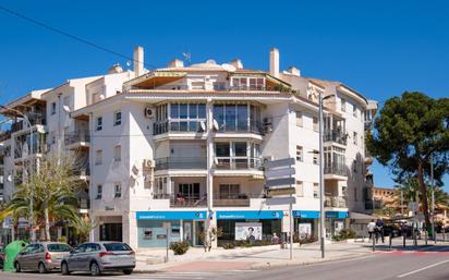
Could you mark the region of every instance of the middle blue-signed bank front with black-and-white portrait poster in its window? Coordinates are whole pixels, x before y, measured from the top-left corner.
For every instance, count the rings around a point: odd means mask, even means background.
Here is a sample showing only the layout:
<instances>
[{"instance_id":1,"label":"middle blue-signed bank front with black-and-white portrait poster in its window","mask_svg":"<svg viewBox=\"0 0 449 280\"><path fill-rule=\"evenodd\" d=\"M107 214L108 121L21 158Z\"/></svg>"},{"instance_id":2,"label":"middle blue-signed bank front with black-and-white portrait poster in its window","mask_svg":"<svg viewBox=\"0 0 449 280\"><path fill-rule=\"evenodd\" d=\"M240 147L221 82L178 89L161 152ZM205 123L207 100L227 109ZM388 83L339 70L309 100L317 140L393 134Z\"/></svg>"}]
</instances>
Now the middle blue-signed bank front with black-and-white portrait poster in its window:
<instances>
[{"instance_id":1,"label":"middle blue-signed bank front with black-and-white portrait poster in its window","mask_svg":"<svg viewBox=\"0 0 449 280\"><path fill-rule=\"evenodd\" d=\"M230 242L271 241L274 233L282 232L281 210L217 211L217 227L223 234L218 238L218 246Z\"/></svg>"}]
</instances>

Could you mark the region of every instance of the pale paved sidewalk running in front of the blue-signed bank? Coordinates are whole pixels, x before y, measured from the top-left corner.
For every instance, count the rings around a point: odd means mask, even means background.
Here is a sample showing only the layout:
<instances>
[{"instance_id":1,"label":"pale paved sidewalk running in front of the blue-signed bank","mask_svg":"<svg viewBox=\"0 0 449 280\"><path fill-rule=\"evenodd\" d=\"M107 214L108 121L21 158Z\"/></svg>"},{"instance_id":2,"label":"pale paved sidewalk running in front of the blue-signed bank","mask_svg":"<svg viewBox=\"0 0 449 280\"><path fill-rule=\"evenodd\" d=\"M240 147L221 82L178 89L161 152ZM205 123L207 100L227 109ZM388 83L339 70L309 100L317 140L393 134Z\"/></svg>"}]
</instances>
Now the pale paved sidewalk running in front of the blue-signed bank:
<instances>
[{"instance_id":1,"label":"pale paved sidewalk running in front of the blue-signed bank","mask_svg":"<svg viewBox=\"0 0 449 280\"><path fill-rule=\"evenodd\" d=\"M434 243L428 241L428 245ZM373 255L372 241L350 240L347 242L326 244L326 258L321 258L318 243L305 244L301 247L293 245L293 259L289 258L290 249L281 249L279 245L259 246L233 249L215 248L205 253L204 248L191 247L186 254L174 256L169 252L169 261L163 263L166 249L139 251L136 254L137 265L135 271L141 272L194 272L194 271L230 271L264 269L293 265L308 265L315 263L369 257ZM413 251L425 246L424 240L417 241L417 247L412 240L406 240L406 247L402 247L402 239L392 240L391 249L389 240L376 244L376 252L385 251Z\"/></svg>"}]
</instances>

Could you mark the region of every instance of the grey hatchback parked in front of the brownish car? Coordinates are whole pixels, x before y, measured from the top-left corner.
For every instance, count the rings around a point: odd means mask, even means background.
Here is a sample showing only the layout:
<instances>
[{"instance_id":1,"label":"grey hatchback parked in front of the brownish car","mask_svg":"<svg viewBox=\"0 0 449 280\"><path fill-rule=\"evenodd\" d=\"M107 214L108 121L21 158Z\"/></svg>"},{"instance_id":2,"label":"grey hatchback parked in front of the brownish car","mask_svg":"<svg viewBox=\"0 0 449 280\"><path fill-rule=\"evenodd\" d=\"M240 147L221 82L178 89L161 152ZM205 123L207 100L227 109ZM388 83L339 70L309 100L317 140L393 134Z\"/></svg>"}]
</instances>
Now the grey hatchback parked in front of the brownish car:
<instances>
[{"instance_id":1,"label":"grey hatchback parked in front of the brownish car","mask_svg":"<svg viewBox=\"0 0 449 280\"><path fill-rule=\"evenodd\" d=\"M134 267L134 251L125 243L113 241L81 244L61 261L63 275L90 271L92 276L99 276L107 270L121 270L131 275Z\"/></svg>"}]
</instances>

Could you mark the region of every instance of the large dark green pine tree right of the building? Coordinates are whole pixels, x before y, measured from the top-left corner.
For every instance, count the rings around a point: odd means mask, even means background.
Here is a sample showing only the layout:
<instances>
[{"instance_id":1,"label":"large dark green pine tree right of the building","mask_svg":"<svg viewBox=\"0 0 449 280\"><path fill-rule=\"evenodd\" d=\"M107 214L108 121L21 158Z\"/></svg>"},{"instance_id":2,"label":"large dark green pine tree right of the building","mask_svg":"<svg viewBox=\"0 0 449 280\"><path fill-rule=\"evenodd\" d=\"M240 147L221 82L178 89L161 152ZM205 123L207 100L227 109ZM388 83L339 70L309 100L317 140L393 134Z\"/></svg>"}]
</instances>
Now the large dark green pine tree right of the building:
<instances>
[{"instance_id":1,"label":"large dark green pine tree right of the building","mask_svg":"<svg viewBox=\"0 0 449 280\"><path fill-rule=\"evenodd\" d=\"M374 132L367 135L366 145L383 166L390 167L398 183L406 178L417 179L429 227L425 181L429 178L430 160L437 185L442 185L441 179L448 172L449 99L433 99L416 92L388 99L374 121Z\"/></svg>"}]
</instances>

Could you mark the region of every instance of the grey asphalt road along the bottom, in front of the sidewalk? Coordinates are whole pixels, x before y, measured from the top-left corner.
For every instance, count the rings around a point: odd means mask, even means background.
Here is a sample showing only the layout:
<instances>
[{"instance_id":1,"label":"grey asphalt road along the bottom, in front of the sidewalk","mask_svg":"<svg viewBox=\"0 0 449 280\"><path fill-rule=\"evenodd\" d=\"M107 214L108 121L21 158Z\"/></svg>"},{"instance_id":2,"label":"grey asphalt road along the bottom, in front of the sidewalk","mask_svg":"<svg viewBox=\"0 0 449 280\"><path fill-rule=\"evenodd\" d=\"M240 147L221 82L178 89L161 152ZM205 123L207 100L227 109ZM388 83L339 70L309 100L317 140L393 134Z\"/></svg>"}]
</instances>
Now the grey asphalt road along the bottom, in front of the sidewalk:
<instances>
[{"instance_id":1,"label":"grey asphalt road along the bottom, in front of the sidewalk","mask_svg":"<svg viewBox=\"0 0 449 280\"><path fill-rule=\"evenodd\" d=\"M448 280L449 247L421 249L420 252L378 252L356 259L337 260L308 266L271 268L259 271L221 271L221 272L158 272L134 273L131 276L108 273L101 277L88 275L61 276L60 273L5 273L4 280L41 279L126 279L126 280Z\"/></svg>"}]
</instances>

